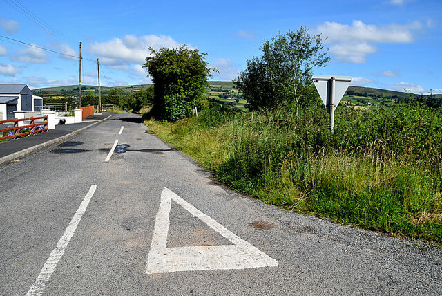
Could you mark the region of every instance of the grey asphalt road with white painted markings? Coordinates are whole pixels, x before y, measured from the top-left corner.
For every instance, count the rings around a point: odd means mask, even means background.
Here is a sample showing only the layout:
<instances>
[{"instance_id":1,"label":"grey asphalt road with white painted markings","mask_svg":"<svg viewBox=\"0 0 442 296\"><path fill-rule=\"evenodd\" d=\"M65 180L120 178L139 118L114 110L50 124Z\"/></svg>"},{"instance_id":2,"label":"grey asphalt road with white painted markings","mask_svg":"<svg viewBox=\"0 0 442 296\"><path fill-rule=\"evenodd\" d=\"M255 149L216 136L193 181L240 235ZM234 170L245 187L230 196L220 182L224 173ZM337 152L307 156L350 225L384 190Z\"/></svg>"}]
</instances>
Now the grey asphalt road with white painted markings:
<instances>
[{"instance_id":1,"label":"grey asphalt road with white painted markings","mask_svg":"<svg viewBox=\"0 0 442 296\"><path fill-rule=\"evenodd\" d=\"M441 250L231 192L139 115L0 175L0 295L442 294Z\"/></svg>"}]
</instances>

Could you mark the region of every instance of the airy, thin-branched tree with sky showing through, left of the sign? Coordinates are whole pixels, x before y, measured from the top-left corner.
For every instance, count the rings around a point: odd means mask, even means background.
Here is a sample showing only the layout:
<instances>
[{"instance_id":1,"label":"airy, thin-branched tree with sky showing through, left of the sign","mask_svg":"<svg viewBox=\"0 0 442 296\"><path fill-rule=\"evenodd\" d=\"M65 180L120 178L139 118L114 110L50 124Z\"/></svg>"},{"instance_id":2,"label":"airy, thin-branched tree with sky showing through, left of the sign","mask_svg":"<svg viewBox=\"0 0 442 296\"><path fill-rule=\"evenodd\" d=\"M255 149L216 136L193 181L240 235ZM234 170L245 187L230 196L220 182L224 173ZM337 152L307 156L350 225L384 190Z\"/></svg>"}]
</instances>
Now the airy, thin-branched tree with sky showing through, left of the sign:
<instances>
[{"instance_id":1,"label":"airy, thin-branched tree with sky showing through, left of the sign","mask_svg":"<svg viewBox=\"0 0 442 296\"><path fill-rule=\"evenodd\" d=\"M234 83L244 93L249 109L275 109L309 104L316 98L311 74L314 66L329 62L320 34L310 35L306 28L285 35L278 32L265 40L261 57L247 60L247 68Z\"/></svg>"}]
</instances>

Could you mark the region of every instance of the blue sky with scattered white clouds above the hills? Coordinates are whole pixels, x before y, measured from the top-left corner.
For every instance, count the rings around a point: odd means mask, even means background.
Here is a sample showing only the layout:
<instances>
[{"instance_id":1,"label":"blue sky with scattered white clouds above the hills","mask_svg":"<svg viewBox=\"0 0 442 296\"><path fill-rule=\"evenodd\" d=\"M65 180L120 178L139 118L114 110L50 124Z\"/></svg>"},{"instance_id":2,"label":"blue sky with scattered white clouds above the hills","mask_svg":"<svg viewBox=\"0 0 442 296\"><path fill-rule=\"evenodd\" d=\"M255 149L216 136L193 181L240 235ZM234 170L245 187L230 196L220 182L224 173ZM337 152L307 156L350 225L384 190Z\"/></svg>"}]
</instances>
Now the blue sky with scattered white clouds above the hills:
<instances>
[{"instance_id":1,"label":"blue sky with scattered white clouds above the hills","mask_svg":"<svg viewBox=\"0 0 442 296\"><path fill-rule=\"evenodd\" d=\"M80 41L83 85L98 84L97 58L103 86L151 83L148 47L180 44L206 53L219 71L209 80L230 81L265 39L303 26L327 37L331 60L315 75L442 93L441 16L442 0L0 0L0 83L79 84Z\"/></svg>"}]
</instances>

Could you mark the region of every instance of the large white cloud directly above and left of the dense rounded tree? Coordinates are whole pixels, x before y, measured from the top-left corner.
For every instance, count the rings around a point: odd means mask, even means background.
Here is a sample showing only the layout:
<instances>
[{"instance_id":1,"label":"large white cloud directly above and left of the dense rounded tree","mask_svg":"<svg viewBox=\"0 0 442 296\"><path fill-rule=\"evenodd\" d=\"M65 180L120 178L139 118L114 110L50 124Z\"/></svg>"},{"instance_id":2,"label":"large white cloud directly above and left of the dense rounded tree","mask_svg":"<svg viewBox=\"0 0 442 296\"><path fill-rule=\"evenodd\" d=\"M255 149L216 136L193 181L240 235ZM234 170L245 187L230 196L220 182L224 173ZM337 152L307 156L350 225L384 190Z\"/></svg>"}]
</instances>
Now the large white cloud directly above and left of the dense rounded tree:
<instances>
[{"instance_id":1,"label":"large white cloud directly above and left of the dense rounded tree","mask_svg":"<svg viewBox=\"0 0 442 296\"><path fill-rule=\"evenodd\" d=\"M177 41L170 36L164 35L126 35L123 38L113 38L105 42L95 42L88 47L88 51L98 55L103 64L113 66L123 64L142 64L151 52L148 47L176 48L180 46Z\"/></svg>"}]
</instances>

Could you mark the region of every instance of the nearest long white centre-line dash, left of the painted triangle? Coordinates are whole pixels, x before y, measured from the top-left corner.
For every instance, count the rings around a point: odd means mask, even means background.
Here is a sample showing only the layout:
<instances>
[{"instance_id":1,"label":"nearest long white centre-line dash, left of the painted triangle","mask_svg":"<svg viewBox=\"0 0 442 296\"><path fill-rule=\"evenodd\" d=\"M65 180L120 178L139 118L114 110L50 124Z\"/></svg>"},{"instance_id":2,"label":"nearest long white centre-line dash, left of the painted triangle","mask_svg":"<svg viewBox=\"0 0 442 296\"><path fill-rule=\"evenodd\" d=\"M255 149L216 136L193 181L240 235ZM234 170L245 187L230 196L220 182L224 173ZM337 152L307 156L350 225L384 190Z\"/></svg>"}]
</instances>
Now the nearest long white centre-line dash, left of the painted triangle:
<instances>
[{"instance_id":1,"label":"nearest long white centre-line dash, left of the painted triangle","mask_svg":"<svg viewBox=\"0 0 442 296\"><path fill-rule=\"evenodd\" d=\"M64 230L64 234L61 239L57 243L57 247L49 255L48 260L44 263L43 268L41 268L40 274L35 280L35 283L30 287L27 296L36 296L41 295L44 291L45 285L48 282L52 273L55 272L55 268L57 268L57 264L60 261L61 257L64 254L64 250L68 247L68 243L70 239L72 239L75 230L77 229L78 224L80 223L81 217L84 212L86 212L86 207L90 202L90 198L94 195L95 189L97 189L97 185L91 185L88 194L84 196L81 205L79 206L77 212L73 216L73 219L70 220L70 223L66 230Z\"/></svg>"}]
</instances>

